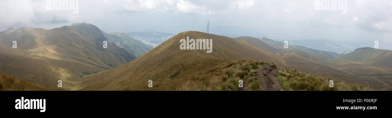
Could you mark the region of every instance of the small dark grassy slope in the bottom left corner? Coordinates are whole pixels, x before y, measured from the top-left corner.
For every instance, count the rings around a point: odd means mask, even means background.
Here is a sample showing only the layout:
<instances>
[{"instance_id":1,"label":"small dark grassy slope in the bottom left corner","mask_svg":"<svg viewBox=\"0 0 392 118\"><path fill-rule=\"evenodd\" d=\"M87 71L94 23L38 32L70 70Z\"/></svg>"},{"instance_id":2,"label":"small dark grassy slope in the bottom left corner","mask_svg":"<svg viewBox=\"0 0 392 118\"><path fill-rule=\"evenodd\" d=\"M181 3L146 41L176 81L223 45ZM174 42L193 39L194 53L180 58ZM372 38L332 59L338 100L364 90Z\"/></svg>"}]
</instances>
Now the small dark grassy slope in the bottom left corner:
<instances>
[{"instance_id":1,"label":"small dark grassy slope in the bottom left corner","mask_svg":"<svg viewBox=\"0 0 392 118\"><path fill-rule=\"evenodd\" d=\"M0 73L0 91L61 91L62 89L52 89L41 85L33 84L25 80L20 80L14 76Z\"/></svg>"}]
</instances>

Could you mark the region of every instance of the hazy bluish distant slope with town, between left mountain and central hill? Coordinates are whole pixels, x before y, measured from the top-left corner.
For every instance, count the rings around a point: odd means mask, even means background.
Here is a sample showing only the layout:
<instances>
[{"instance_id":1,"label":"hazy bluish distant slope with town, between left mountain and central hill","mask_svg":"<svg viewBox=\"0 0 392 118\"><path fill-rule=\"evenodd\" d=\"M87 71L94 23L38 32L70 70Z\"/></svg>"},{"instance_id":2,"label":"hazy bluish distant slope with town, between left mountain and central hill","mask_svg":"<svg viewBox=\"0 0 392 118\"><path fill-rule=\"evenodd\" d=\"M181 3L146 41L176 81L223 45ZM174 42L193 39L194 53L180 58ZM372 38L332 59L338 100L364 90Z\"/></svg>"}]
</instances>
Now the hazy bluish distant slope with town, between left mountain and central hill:
<instances>
[{"instance_id":1,"label":"hazy bluish distant slope with town, between left mountain and central hill","mask_svg":"<svg viewBox=\"0 0 392 118\"><path fill-rule=\"evenodd\" d=\"M163 32L139 32L139 31L133 31L133 32L128 32L128 35L132 36L136 40L139 40L147 45L150 45L152 47L157 47L158 45L162 44L174 34L171 33L163 33Z\"/></svg>"}]
</instances>

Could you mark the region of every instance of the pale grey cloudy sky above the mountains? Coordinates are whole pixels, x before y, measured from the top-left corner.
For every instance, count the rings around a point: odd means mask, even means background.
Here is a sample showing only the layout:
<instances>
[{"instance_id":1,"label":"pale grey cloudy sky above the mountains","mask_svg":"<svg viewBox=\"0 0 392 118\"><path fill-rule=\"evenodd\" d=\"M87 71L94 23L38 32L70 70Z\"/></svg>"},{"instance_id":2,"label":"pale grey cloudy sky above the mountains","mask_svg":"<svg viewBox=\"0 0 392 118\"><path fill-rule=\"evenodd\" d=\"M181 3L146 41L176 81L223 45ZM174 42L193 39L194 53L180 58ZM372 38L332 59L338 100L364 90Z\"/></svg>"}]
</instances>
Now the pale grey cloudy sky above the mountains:
<instances>
[{"instance_id":1,"label":"pale grey cloudy sky above the mountains","mask_svg":"<svg viewBox=\"0 0 392 118\"><path fill-rule=\"evenodd\" d=\"M0 31L23 25L53 29L87 22L105 32L177 34L205 32L209 20L210 33L220 35L360 40L369 45L377 40L381 49L391 49L392 0L347 0L347 13L315 10L317 1L78 0L78 13L74 14L72 10L47 10L47 0L0 0Z\"/></svg>"}]
</instances>

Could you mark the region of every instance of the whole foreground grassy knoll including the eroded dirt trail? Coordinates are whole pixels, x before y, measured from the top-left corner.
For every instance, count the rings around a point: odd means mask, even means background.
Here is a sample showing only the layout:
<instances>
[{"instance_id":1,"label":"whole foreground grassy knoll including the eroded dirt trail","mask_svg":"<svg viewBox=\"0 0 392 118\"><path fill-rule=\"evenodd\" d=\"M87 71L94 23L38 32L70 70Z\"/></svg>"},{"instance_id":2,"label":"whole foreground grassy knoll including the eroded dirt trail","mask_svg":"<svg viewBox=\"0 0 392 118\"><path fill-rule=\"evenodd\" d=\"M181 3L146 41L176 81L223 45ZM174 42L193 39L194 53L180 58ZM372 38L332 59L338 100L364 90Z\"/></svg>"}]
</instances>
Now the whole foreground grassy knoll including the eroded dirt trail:
<instances>
[{"instance_id":1,"label":"whole foreground grassy knoll including the eroded dirt trail","mask_svg":"<svg viewBox=\"0 0 392 118\"><path fill-rule=\"evenodd\" d=\"M345 84L331 78L301 73L287 68L277 69L267 62L229 61L207 70L167 83L145 86L140 91L369 91L368 86ZM239 87L239 81L243 87ZM334 87L329 87L334 80ZM123 89L134 90L134 89Z\"/></svg>"}]
</instances>

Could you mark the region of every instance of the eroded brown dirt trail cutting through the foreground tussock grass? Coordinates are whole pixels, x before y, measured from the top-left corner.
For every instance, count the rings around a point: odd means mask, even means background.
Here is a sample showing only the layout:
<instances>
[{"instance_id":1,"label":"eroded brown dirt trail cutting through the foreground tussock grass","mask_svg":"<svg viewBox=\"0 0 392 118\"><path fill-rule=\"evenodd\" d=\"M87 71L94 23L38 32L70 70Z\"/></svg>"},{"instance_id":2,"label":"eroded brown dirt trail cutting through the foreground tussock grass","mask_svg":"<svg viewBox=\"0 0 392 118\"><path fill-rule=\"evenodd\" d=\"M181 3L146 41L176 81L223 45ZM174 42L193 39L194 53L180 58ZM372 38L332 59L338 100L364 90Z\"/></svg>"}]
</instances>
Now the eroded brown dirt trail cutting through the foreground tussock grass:
<instances>
[{"instance_id":1,"label":"eroded brown dirt trail cutting through the foreground tussock grass","mask_svg":"<svg viewBox=\"0 0 392 118\"><path fill-rule=\"evenodd\" d=\"M267 69L265 69L267 67ZM280 91L283 90L278 79L276 68L266 65L257 70L257 78L260 80L261 88L263 91ZM264 74L263 74L264 73Z\"/></svg>"}]
</instances>

